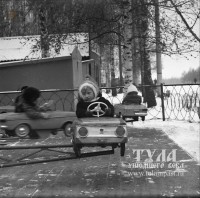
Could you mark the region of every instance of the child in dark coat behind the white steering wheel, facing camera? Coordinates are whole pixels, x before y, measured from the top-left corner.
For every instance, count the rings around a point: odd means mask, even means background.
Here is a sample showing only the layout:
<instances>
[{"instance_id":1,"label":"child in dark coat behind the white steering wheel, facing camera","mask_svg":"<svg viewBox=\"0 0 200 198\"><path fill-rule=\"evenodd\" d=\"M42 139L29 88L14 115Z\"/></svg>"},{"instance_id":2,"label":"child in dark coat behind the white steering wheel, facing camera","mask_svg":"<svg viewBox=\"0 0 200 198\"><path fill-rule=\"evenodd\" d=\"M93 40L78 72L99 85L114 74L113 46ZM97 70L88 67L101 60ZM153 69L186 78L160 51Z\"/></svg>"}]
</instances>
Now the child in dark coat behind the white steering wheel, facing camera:
<instances>
[{"instance_id":1,"label":"child in dark coat behind the white steering wheel, facing camera","mask_svg":"<svg viewBox=\"0 0 200 198\"><path fill-rule=\"evenodd\" d=\"M88 106L94 102L103 102L108 106L108 108L106 108L104 105L100 104L101 109L105 112L102 116L114 116L113 105L107 99L102 97L96 81L91 76L86 76L85 81L80 84L78 92L79 101L76 107L76 116L78 118L93 117L95 112L88 110Z\"/></svg>"}]
</instances>

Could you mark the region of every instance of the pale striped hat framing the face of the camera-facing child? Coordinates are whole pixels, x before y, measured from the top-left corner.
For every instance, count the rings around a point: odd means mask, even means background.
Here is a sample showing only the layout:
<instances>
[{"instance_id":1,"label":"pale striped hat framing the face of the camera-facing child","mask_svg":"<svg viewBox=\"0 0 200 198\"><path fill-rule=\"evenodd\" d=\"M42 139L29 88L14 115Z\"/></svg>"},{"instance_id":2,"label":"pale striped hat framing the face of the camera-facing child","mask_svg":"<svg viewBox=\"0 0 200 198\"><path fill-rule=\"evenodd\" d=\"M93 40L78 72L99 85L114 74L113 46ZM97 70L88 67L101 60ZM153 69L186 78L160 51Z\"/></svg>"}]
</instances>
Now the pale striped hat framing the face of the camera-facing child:
<instances>
[{"instance_id":1,"label":"pale striped hat framing the face of the camera-facing child","mask_svg":"<svg viewBox=\"0 0 200 198\"><path fill-rule=\"evenodd\" d=\"M93 90L94 96L95 98L97 98L97 96L99 95L99 87L97 85L97 82L89 75L85 77L85 81L83 81L79 86L78 91L79 91L80 97L83 98L83 94L81 90L83 89L83 87L86 87L86 86L90 87Z\"/></svg>"}]
</instances>

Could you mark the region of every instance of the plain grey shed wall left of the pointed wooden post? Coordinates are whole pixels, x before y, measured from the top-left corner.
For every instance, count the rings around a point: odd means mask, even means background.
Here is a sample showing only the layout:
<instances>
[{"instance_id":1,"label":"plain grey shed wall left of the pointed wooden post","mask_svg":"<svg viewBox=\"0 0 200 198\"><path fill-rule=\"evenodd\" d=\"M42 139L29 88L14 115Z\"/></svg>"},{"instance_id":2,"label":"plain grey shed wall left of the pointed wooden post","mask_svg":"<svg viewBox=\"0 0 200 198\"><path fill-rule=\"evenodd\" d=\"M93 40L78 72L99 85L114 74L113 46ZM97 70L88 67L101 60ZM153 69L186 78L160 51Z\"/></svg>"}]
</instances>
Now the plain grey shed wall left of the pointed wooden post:
<instances>
[{"instance_id":1,"label":"plain grey shed wall left of the pointed wooden post","mask_svg":"<svg viewBox=\"0 0 200 198\"><path fill-rule=\"evenodd\" d=\"M71 57L0 64L0 91L16 91L20 87L38 89L73 89Z\"/></svg>"}]
</instances>

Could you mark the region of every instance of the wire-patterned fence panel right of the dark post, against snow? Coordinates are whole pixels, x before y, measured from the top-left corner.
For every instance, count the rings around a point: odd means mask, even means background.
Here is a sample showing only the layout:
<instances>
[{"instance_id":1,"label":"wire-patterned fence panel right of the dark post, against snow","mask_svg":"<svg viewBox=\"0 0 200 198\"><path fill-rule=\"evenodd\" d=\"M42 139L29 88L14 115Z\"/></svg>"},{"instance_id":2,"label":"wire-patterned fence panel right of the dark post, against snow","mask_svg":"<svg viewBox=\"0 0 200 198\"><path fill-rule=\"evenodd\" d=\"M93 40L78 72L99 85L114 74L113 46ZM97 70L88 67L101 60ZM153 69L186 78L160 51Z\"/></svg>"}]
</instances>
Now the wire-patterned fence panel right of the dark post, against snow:
<instances>
[{"instance_id":1,"label":"wire-patterned fence panel right of the dark post, against snow","mask_svg":"<svg viewBox=\"0 0 200 198\"><path fill-rule=\"evenodd\" d=\"M164 115L167 119L198 122L200 84L161 85ZM169 95L168 95L169 93Z\"/></svg>"}]
</instances>

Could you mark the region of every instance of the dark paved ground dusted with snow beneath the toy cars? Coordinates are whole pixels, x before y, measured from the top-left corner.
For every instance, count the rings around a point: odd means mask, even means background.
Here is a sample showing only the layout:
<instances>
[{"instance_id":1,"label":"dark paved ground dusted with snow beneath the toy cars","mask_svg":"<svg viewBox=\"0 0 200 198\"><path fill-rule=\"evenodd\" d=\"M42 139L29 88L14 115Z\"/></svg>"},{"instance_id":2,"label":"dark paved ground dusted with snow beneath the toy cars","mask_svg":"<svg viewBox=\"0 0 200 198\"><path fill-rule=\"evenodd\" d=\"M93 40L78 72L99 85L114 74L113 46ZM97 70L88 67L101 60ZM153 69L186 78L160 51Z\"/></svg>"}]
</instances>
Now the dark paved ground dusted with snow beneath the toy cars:
<instances>
[{"instance_id":1,"label":"dark paved ground dusted with snow beneath the toy cars","mask_svg":"<svg viewBox=\"0 0 200 198\"><path fill-rule=\"evenodd\" d=\"M65 153L44 150L28 157L71 157L68 160L0 168L0 197L199 197L200 165L162 131L129 129L125 157L114 154L74 158L72 148ZM42 140L10 140L12 145L70 143L62 133ZM0 141L5 143L5 141ZM110 148L84 148L83 153ZM31 150L0 151L16 159ZM98 153L96 153L98 154ZM104 153L105 154L105 153ZM140 159L139 159L140 158ZM176 162L172 163L172 159ZM139 160L137 163L136 160ZM154 167L153 167L154 165Z\"/></svg>"}]
</instances>

